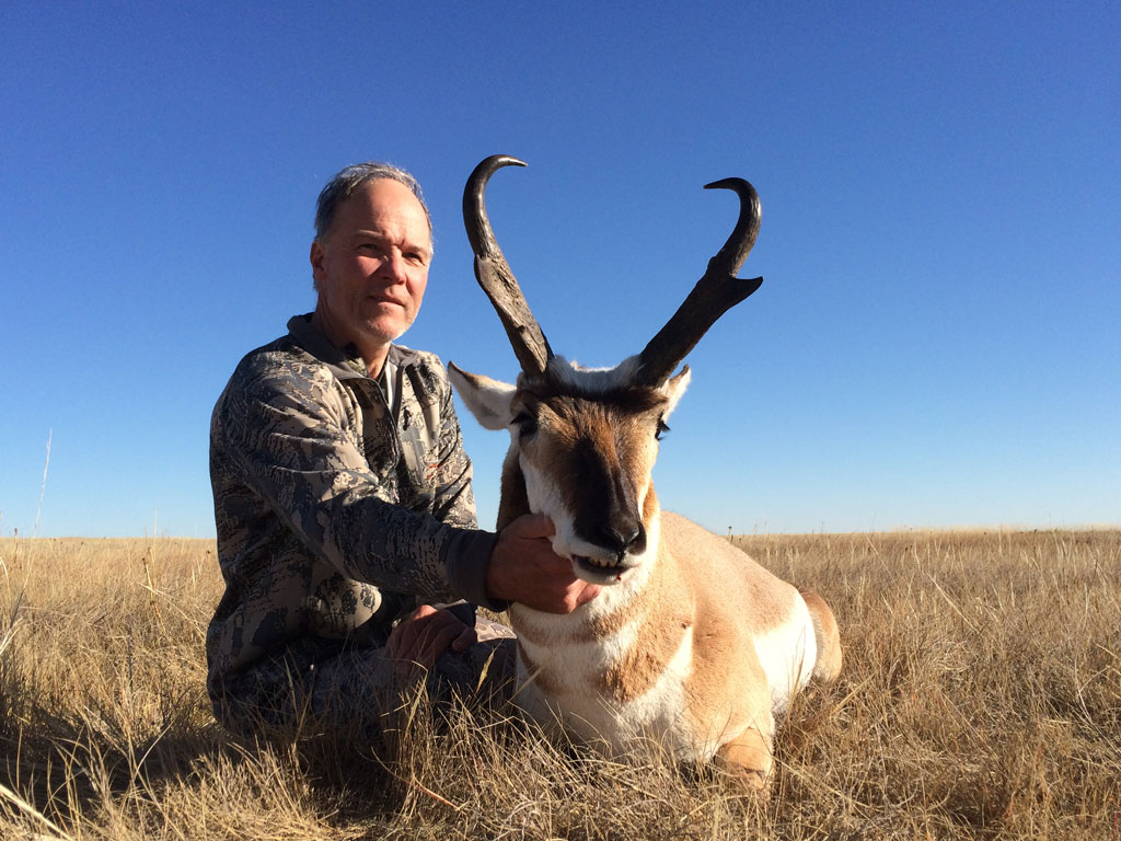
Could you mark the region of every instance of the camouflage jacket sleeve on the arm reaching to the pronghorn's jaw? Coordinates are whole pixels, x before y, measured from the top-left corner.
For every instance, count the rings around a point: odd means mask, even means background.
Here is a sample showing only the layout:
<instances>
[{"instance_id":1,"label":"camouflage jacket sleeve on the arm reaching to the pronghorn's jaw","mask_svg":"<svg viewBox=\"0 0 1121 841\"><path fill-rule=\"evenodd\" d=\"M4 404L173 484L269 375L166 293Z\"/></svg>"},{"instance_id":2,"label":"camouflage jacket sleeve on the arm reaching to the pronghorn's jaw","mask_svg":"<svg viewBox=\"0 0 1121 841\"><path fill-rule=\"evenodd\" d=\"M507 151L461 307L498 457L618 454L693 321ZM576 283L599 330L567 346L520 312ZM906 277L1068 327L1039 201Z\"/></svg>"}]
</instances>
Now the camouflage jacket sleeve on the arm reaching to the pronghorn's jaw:
<instances>
[{"instance_id":1,"label":"camouflage jacket sleeve on the arm reaching to the pronghorn's jaw","mask_svg":"<svg viewBox=\"0 0 1121 841\"><path fill-rule=\"evenodd\" d=\"M222 458L312 552L383 590L480 598L495 536L456 525L466 518L443 523L383 499L382 480L349 432L358 409L330 375L254 367L240 373L215 413ZM450 499L450 511L470 501L470 469Z\"/></svg>"}]
</instances>

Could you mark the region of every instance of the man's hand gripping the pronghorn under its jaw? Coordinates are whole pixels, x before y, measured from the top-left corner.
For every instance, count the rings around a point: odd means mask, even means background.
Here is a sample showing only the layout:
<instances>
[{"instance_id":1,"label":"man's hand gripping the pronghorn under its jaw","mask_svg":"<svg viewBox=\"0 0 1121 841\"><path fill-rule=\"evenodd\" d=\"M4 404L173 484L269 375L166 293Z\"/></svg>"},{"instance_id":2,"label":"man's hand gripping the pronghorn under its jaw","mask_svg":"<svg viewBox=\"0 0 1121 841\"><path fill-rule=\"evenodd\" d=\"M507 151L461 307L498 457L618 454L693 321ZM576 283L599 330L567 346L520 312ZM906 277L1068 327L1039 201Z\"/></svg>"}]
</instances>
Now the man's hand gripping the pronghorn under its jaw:
<instances>
[{"instance_id":1,"label":"man's hand gripping the pronghorn under its jaw","mask_svg":"<svg viewBox=\"0 0 1121 841\"><path fill-rule=\"evenodd\" d=\"M527 514L499 532L487 567L487 594L547 613L571 613L600 593L577 579L572 561L553 553L556 533L544 514Z\"/></svg>"}]
</instances>

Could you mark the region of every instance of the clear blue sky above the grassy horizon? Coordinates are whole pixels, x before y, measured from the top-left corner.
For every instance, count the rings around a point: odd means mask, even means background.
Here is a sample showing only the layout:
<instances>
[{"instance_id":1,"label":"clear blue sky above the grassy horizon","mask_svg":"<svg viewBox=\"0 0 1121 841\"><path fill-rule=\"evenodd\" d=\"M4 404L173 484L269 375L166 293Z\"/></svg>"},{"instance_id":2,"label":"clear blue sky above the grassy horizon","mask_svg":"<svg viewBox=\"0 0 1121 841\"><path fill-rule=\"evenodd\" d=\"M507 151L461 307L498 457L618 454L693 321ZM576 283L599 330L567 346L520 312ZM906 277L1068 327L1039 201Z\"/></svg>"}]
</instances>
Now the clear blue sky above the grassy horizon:
<instances>
[{"instance_id":1,"label":"clear blue sky above the grassy horizon","mask_svg":"<svg viewBox=\"0 0 1121 841\"><path fill-rule=\"evenodd\" d=\"M240 8L229 8L240 7ZM827 11L825 10L827 9ZM762 197L763 287L655 472L724 533L1121 521L1121 4L0 3L0 532L213 535L211 408L314 307L315 196L388 159L404 340L503 379L460 196L554 349L640 350ZM480 520L506 436L461 406Z\"/></svg>"}]
</instances>

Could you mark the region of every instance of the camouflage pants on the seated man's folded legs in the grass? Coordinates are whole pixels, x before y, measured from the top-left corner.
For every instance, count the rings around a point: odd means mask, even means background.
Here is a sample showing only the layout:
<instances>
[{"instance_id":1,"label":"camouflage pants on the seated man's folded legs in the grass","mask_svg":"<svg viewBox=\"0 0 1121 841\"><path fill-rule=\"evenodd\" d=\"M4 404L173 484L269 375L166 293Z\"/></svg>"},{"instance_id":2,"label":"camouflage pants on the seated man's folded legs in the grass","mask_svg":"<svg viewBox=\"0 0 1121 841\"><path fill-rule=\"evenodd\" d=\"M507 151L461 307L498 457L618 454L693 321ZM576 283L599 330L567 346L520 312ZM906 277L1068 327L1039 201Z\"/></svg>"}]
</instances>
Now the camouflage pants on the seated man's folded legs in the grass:
<instances>
[{"instance_id":1,"label":"camouflage pants on the seated man's folded legs in the grass","mask_svg":"<svg viewBox=\"0 0 1121 841\"><path fill-rule=\"evenodd\" d=\"M479 641L448 650L430 671L391 660L383 647L346 647L324 654L293 646L228 684L213 699L214 714L243 736L262 731L334 732L374 740L388 715L418 696L420 684L435 709L453 697L493 703L512 695L516 640L503 625L475 621Z\"/></svg>"}]
</instances>

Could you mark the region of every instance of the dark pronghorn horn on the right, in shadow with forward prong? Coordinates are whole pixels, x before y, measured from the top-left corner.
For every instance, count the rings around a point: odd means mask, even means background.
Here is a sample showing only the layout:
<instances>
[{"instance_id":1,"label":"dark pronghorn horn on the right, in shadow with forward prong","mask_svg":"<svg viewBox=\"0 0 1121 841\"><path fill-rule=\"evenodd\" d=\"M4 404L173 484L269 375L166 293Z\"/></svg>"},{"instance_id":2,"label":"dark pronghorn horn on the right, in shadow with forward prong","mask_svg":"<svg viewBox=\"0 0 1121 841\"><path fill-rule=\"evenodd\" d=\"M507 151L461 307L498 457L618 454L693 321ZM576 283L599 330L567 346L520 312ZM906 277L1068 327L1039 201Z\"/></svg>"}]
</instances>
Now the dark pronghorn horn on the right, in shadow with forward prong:
<instances>
[{"instance_id":1,"label":"dark pronghorn horn on the right, in shadow with forward prong","mask_svg":"<svg viewBox=\"0 0 1121 841\"><path fill-rule=\"evenodd\" d=\"M756 188L743 178L724 178L704 188L734 190L740 196L740 218L728 242L708 260L704 277L639 355L637 378L646 386L658 387L669 379L708 327L763 283L761 277L744 280L735 276L759 235L762 209Z\"/></svg>"}]
</instances>

